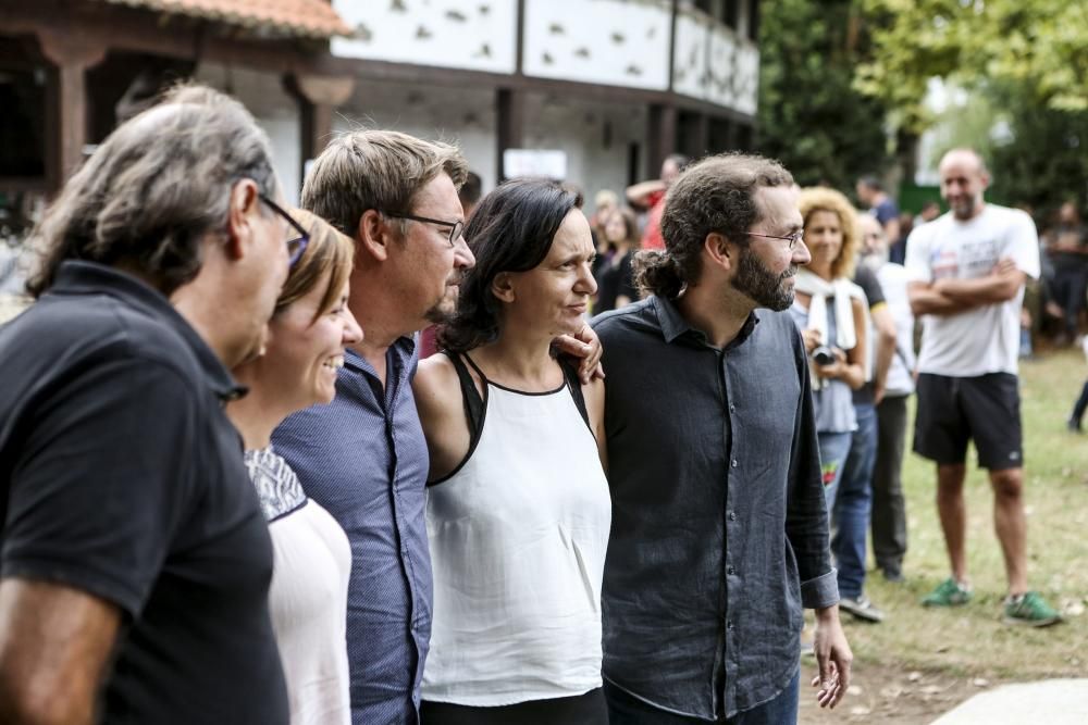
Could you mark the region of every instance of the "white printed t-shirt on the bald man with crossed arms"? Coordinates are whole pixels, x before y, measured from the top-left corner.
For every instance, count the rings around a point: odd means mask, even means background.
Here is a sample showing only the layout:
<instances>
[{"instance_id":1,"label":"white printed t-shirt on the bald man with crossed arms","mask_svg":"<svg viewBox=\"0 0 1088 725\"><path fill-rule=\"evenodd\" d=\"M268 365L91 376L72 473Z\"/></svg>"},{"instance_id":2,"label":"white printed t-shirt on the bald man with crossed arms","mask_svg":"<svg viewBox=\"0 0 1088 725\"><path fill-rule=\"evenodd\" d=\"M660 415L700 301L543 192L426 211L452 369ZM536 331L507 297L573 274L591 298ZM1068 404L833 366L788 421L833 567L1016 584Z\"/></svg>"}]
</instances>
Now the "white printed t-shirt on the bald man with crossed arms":
<instances>
[{"instance_id":1,"label":"white printed t-shirt on the bald man with crossed arms","mask_svg":"<svg viewBox=\"0 0 1088 725\"><path fill-rule=\"evenodd\" d=\"M906 243L911 282L975 279L1010 258L1027 276L1039 276L1039 239L1031 217L987 203L961 222L949 212L917 227ZM1016 297L955 315L924 315L918 370L950 377L1016 373L1024 288Z\"/></svg>"}]
</instances>

